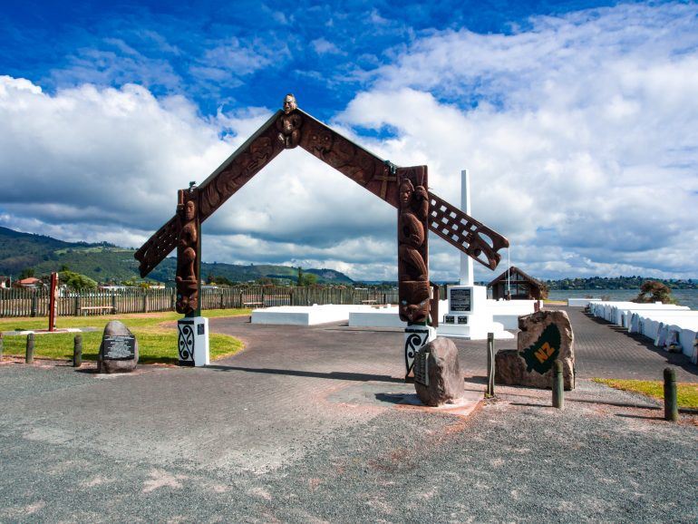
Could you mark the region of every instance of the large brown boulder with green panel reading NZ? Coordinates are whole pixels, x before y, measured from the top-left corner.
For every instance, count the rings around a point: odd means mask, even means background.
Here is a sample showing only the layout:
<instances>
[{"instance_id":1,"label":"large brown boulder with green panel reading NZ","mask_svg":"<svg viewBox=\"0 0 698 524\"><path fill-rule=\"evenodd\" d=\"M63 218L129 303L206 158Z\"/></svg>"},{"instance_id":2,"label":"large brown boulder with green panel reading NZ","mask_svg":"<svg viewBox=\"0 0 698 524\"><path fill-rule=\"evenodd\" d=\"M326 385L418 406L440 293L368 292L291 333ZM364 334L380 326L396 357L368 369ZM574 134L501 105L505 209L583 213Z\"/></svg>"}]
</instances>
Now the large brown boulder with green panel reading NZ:
<instances>
[{"instance_id":1,"label":"large brown boulder with green panel reading NZ","mask_svg":"<svg viewBox=\"0 0 698 524\"><path fill-rule=\"evenodd\" d=\"M575 389L575 337L564 311L537 311L519 316L517 350L495 357L495 382L536 388L552 387L553 362L562 361L567 391Z\"/></svg>"}]
</instances>

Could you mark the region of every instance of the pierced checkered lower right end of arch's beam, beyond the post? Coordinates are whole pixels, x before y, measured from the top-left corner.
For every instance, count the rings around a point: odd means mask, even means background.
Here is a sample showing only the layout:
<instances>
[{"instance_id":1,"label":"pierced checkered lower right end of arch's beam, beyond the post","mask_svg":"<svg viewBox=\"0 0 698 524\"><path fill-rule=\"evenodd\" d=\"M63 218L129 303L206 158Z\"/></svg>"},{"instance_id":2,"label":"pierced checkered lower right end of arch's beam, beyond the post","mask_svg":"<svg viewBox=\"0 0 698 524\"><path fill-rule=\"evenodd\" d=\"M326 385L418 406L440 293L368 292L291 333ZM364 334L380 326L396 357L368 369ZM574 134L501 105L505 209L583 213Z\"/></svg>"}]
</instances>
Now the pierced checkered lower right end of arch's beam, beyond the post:
<instances>
[{"instance_id":1,"label":"pierced checkered lower right end of arch's beam, beyond the post","mask_svg":"<svg viewBox=\"0 0 698 524\"><path fill-rule=\"evenodd\" d=\"M509 247L509 240L431 192L429 215L431 231L490 269L499 264L499 249Z\"/></svg>"}]
</instances>

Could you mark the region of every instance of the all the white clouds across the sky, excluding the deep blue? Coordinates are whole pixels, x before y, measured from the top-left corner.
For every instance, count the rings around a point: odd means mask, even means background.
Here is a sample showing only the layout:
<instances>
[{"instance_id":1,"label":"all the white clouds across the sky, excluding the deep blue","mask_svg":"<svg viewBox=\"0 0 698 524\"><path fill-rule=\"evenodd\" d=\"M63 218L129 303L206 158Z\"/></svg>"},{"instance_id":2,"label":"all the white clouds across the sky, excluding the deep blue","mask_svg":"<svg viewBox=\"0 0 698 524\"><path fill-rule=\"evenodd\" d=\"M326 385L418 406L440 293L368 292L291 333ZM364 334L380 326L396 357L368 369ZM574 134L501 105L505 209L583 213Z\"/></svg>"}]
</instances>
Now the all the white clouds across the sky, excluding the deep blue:
<instances>
[{"instance_id":1,"label":"all the white clouds across the sky, excluding the deep blue","mask_svg":"<svg viewBox=\"0 0 698 524\"><path fill-rule=\"evenodd\" d=\"M433 33L373 72L332 123L399 165L428 164L431 188L455 204L469 168L473 215L509 237L528 273L696 277L696 15L618 5L508 35ZM208 65L254 68L236 45ZM46 94L3 77L0 222L136 245L170 218L176 189L205 179L269 114L207 119L130 84ZM352 131L385 126L394 136ZM292 150L206 222L204 258L394 278L393 229L392 208ZM432 277L456 277L457 252L431 238Z\"/></svg>"}]
</instances>

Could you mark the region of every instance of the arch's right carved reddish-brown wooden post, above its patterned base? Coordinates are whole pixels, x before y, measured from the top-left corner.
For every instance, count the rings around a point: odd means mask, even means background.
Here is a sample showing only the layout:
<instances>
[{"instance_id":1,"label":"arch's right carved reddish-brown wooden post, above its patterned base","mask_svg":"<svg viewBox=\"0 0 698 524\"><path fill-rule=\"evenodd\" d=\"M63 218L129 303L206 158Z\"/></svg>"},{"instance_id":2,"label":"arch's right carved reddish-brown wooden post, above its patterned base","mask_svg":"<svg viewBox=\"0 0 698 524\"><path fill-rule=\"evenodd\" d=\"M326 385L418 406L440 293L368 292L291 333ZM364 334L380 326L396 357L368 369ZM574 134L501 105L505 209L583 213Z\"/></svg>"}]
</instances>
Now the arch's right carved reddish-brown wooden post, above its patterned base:
<instances>
[{"instance_id":1,"label":"arch's right carved reddish-brown wooden post, above its patterned base","mask_svg":"<svg viewBox=\"0 0 698 524\"><path fill-rule=\"evenodd\" d=\"M398 281L400 319L421 324L429 319L429 197L426 168L398 169Z\"/></svg>"}]
</instances>

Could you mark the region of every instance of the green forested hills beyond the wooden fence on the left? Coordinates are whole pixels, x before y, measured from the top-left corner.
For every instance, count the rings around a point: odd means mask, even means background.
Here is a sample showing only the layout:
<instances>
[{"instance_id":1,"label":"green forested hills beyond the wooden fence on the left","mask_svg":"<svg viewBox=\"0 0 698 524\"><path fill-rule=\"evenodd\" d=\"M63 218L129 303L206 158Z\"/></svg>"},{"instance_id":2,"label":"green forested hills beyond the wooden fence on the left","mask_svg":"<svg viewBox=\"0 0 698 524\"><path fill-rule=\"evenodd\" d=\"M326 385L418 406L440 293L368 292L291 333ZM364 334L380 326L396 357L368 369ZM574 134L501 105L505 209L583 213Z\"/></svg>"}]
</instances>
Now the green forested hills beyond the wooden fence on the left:
<instances>
[{"instance_id":1,"label":"green forested hills beyond the wooden fence on the left","mask_svg":"<svg viewBox=\"0 0 698 524\"><path fill-rule=\"evenodd\" d=\"M64 242L44 235L20 233L0 227L0 275L18 277L26 268L34 268L37 276L48 275L66 266L71 271L91 277L98 282L122 282L140 278L138 262L133 258L135 249L118 247L106 242ZM166 258L153 269L148 278L160 282L174 279L177 261ZM352 284L353 280L334 269L303 269L305 273L317 275L318 282L330 284ZM297 267L290 266L237 266L234 264L206 262L201 264L203 278L226 277L236 282L257 280L261 277L287 278L296 280Z\"/></svg>"}]
</instances>

